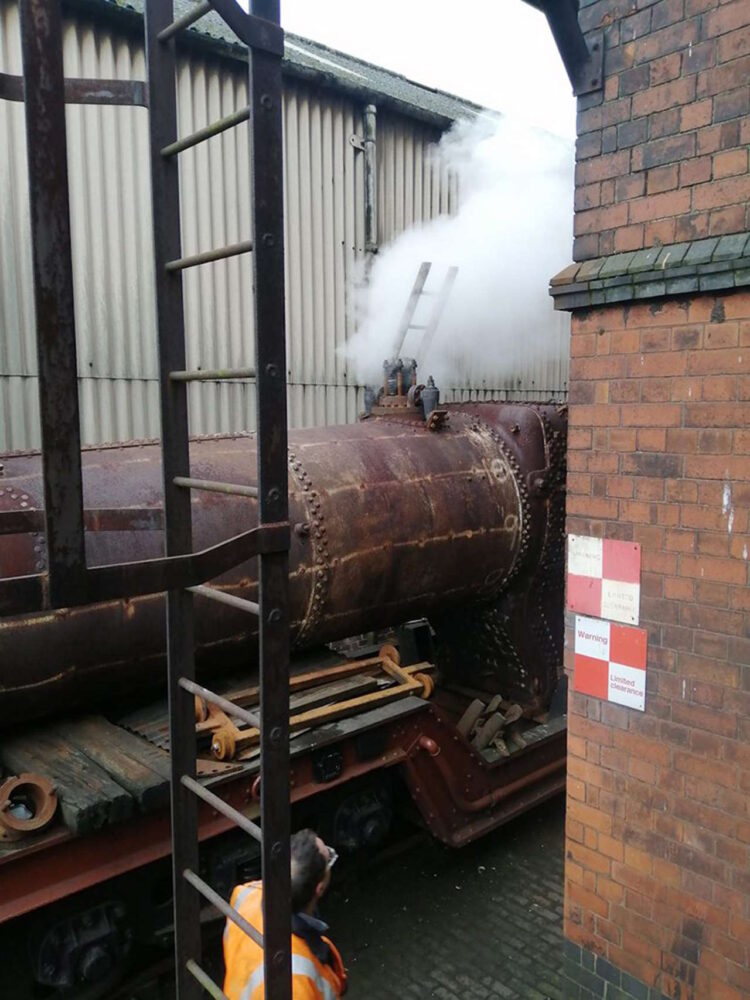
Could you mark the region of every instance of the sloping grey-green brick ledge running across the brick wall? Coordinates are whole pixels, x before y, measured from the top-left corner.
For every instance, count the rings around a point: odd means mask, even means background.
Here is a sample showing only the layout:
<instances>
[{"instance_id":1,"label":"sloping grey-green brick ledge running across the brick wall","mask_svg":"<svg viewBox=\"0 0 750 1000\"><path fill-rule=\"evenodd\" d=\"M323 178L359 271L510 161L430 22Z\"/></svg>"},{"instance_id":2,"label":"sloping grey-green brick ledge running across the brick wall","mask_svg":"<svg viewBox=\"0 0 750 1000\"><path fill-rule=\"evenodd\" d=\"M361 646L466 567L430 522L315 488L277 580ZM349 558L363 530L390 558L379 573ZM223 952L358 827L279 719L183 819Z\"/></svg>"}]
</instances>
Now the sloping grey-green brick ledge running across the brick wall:
<instances>
[{"instance_id":1,"label":"sloping grey-green brick ledge running across the brick wall","mask_svg":"<svg viewBox=\"0 0 750 1000\"><path fill-rule=\"evenodd\" d=\"M550 279L555 309L750 285L750 232L569 264ZM616 291L615 291L616 289Z\"/></svg>"}]
</instances>

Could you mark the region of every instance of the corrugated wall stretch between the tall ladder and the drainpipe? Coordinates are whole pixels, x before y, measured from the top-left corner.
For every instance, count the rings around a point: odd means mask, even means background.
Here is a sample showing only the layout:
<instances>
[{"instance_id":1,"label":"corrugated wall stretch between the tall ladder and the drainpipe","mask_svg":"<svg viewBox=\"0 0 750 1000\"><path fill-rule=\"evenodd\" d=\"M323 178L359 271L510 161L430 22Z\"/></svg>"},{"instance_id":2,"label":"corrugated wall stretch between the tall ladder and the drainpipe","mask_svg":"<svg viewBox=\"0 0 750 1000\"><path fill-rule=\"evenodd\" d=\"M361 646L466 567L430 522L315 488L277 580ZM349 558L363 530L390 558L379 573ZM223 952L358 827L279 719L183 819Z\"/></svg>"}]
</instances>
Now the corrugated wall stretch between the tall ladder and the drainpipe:
<instances>
[{"instance_id":1,"label":"corrugated wall stretch between the tall ladder and the drainpipe","mask_svg":"<svg viewBox=\"0 0 750 1000\"><path fill-rule=\"evenodd\" d=\"M362 134L362 109L289 82L284 106L289 418L342 423L362 409L339 350L364 257L364 160L349 142Z\"/></svg>"}]
</instances>

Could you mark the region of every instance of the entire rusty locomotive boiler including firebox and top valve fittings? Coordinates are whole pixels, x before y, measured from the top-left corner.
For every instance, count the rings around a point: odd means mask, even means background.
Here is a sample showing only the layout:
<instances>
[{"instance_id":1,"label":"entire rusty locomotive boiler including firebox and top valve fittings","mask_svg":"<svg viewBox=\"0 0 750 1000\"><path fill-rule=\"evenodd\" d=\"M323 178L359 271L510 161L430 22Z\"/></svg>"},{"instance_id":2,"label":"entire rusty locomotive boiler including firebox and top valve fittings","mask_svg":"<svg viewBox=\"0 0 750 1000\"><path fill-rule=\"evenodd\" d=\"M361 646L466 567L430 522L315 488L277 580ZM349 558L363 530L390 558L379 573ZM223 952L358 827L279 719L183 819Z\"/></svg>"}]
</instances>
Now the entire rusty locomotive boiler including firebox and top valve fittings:
<instances>
[{"instance_id":1,"label":"entire rusty locomotive boiler including firebox and top valve fittings","mask_svg":"<svg viewBox=\"0 0 750 1000\"><path fill-rule=\"evenodd\" d=\"M443 675L541 711L562 662L565 409L388 386L362 422L290 435L293 647L424 616ZM252 485L255 468L253 435L191 444L195 478ZM162 554L157 444L88 448L83 478L89 565ZM0 511L42 500L39 455L7 457ZM250 528L255 503L196 493L195 547ZM0 536L0 576L44 568L41 527ZM254 600L254 562L214 585ZM255 617L195 601L199 674L247 664ZM164 618L152 595L0 620L0 727L163 686Z\"/></svg>"}]
</instances>

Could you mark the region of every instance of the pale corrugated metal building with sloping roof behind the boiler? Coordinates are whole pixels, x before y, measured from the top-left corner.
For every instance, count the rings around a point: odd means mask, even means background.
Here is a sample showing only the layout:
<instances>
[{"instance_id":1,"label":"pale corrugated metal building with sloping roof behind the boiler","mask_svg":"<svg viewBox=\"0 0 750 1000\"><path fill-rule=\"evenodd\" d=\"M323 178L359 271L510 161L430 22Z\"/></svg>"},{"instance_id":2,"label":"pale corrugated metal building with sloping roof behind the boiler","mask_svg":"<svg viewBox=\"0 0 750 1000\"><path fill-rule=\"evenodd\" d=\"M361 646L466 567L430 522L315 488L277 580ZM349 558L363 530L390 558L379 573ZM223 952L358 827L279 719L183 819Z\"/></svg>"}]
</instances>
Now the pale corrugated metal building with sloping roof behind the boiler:
<instances>
[{"instance_id":1,"label":"pale corrugated metal building with sloping roof behind the boiler","mask_svg":"<svg viewBox=\"0 0 750 1000\"><path fill-rule=\"evenodd\" d=\"M144 79L141 7L140 0L68 4L66 75ZM181 135L247 104L243 51L213 16L199 27L179 63ZM289 420L340 423L362 408L362 387L338 349L353 331L350 293L366 242L382 246L414 222L455 211L455 178L428 151L454 120L481 109L295 36L287 37L284 71ZM21 73L18 0L0 0L0 73ZM367 104L377 108L370 234L359 148ZM66 119L83 440L157 437L147 111L71 105ZM3 451L39 442L24 131L23 105L0 99ZM180 166L184 252L246 239L247 125L181 154ZM252 366L250 258L188 271L184 289L188 366ZM523 366L515 395L565 394L567 341L559 328L551 333L560 339L559 361ZM193 433L252 428L251 382L200 383L191 393Z\"/></svg>"}]
</instances>

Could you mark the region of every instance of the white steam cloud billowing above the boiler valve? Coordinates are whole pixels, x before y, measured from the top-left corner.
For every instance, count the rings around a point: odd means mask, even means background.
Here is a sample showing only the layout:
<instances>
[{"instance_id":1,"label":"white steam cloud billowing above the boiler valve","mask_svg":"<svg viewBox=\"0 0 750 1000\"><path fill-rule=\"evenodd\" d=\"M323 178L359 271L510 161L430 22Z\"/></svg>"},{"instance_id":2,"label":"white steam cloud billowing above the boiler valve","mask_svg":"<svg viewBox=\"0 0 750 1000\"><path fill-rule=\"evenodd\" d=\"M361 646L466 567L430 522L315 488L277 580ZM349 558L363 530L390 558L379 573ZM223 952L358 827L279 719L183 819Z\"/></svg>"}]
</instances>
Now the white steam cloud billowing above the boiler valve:
<instances>
[{"instance_id":1,"label":"white steam cloud billowing above the boiler valve","mask_svg":"<svg viewBox=\"0 0 750 1000\"><path fill-rule=\"evenodd\" d=\"M569 321L555 313L550 277L570 261L573 145L505 117L461 122L435 156L458 175L456 216L441 216L402 233L375 258L355 293L358 332L345 350L360 384L379 385L422 261L431 261L426 291L437 292L447 269L458 275L426 358L421 331L410 331L401 357L455 387L560 388L567 377ZM427 322L435 299L423 297L413 323ZM531 385L542 359L558 362L556 386ZM512 393L511 393L512 394Z\"/></svg>"}]
</instances>

